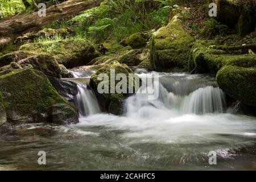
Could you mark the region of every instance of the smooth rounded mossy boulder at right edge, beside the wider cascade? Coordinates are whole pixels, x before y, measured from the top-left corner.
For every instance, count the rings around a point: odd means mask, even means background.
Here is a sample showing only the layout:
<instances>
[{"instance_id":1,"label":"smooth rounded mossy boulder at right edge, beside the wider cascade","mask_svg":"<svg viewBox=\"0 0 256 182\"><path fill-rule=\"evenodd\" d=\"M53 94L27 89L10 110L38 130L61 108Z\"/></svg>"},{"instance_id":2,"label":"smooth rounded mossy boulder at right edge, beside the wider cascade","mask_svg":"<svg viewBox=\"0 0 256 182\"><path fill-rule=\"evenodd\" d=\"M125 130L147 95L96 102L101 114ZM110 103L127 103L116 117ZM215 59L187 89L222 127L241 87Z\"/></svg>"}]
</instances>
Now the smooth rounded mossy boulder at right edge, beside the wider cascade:
<instances>
[{"instance_id":1,"label":"smooth rounded mossy boulder at right edge, beside the wider cascade","mask_svg":"<svg viewBox=\"0 0 256 182\"><path fill-rule=\"evenodd\" d=\"M225 65L217 73L217 82L232 98L256 106L256 59L254 67Z\"/></svg>"}]
</instances>

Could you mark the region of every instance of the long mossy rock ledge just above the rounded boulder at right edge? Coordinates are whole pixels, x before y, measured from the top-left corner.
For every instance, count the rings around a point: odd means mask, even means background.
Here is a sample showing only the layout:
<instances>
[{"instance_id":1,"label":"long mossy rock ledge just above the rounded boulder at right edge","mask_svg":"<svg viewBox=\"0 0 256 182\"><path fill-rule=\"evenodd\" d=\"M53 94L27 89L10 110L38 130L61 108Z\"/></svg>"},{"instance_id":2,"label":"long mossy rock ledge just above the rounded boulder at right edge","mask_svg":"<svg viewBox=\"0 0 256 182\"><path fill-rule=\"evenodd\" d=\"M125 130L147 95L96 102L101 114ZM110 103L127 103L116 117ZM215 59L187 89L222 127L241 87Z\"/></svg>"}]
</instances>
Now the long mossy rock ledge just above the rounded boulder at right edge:
<instances>
[{"instance_id":1,"label":"long mossy rock ledge just above the rounded boulder at right edge","mask_svg":"<svg viewBox=\"0 0 256 182\"><path fill-rule=\"evenodd\" d=\"M255 55L248 53L249 49L256 51L256 46L210 46L213 42L197 42L191 49L189 69L196 73L216 74L224 65L251 61Z\"/></svg>"}]
</instances>

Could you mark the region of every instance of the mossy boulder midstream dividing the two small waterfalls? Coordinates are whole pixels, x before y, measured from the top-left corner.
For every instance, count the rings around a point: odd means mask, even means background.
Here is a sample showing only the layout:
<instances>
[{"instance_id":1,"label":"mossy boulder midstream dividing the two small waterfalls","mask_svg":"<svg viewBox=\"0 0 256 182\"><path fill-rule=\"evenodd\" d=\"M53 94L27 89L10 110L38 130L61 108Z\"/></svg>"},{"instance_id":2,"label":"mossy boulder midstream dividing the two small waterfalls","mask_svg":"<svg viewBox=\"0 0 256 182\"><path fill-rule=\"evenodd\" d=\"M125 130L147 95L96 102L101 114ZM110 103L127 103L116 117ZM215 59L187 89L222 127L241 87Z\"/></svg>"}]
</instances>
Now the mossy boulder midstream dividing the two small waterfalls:
<instances>
[{"instance_id":1,"label":"mossy boulder midstream dividing the two small waterfalls","mask_svg":"<svg viewBox=\"0 0 256 182\"><path fill-rule=\"evenodd\" d=\"M114 78L110 77L111 71L114 71L115 76L118 73L125 74L126 79L127 79L127 86L126 86L127 90L125 90L125 93L117 93L117 90L115 90L118 82L120 82L120 81L116 81L115 77ZM129 89L133 90L133 93L135 93L135 88L137 88L137 87L135 87L135 85L140 84L140 82L139 82L140 79L137 78L137 79L134 79L133 83L130 85L129 81L128 81L129 73L133 74L134 72L131 71L131 69L129 67L127 67L127 65L120 64L120 63L118 63L118 61L114 60L111 63L102 64L101 68L98 69L98 71L94 75L92 75L92 77L90 78L90 86L96 93L96 97L98 98L98 101L100 103L102 111L107 111L109 113L116 114L116 115L122 114L123 100L127 96L129 96ZM98 80L98 77L100 76L100 74L105 74L106 76L108 76L108 79L107 80L105 80L105 79ZM113 85L111 84L112 81L114 83ZM106 83L106 86L108 89L107 93L105 93L105 92L99 93L98 92L98 86L99 86L99 84L102 84L103 82ZM104 89L105 85L103 85L101 88ZM114 90L114 92L111 92L112 89Z\"/></svg>"}]
</instances>

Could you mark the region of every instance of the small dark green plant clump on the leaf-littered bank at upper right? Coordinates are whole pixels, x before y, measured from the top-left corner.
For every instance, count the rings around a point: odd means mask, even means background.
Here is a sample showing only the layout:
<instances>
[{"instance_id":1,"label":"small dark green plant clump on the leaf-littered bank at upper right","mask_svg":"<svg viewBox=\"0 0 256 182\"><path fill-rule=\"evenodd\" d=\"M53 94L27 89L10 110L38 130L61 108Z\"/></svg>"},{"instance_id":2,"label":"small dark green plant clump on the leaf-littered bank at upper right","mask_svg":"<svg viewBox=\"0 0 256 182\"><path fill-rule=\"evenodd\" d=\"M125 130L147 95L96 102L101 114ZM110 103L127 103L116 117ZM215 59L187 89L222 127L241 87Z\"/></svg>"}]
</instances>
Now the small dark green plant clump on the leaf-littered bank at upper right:
<instances>
[{"instance_id":1,"label":"small dark green plant clump on the leaf-littered bank at upper right","mask_svg":"<svg viewBox=\"0 0 256 182\"><path fill-rule=\"evenodd\" d=\"M217 22L214 18L210 18L205 22L205 27L201 31L201 34L208 39L213 39L216 35L225 35L228 31L228 26Z\"/></svg>"}]
</instances>

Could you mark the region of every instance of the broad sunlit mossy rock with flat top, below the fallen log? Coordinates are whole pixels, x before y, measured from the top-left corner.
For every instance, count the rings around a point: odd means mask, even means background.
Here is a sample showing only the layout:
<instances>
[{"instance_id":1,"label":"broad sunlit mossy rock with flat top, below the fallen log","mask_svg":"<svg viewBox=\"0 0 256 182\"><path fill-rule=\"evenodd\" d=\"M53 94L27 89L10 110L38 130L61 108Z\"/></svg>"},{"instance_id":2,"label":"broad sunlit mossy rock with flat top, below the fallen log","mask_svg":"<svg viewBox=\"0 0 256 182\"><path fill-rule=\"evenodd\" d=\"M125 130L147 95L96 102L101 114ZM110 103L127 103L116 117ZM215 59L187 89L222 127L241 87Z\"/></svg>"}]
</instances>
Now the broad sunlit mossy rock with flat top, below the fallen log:
<instances>
[{"instance_id":1,"label":"broad sunlit mossy rock with flat top, below the fallen log","mask_svg":"<svg viewBox=\"0 0 256 182\"><path fill-rule=\"evenodd\" d=\"M65 39L24 44L19 49L35 54L48 53L55 57L57 63L63 64L67 68L86 65L99 56L95 46L86 39Z\"/></svg>"}]
</instances>

